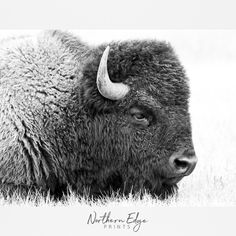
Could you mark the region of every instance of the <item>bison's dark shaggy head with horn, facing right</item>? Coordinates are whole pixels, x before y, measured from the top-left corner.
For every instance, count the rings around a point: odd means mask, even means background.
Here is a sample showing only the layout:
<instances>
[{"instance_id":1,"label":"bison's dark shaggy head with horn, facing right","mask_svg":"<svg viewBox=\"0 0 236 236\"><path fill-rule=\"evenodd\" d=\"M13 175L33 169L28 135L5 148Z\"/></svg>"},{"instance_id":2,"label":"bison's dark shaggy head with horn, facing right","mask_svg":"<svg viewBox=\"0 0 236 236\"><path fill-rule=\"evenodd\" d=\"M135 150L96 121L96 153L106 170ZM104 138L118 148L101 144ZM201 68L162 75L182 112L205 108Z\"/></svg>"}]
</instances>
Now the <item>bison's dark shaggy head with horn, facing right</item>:
<instances>
[{"instance_id":1,"label":"bison's dark shaggy head with horn, facing right","mask_svg":"<svg viewBox=\"0 0 236 236\"><path fill-rule=\"evenodd\" d=\"M110 50L101 46L92 51L82 79L86 119L80 119L78 130L79 181L92 193L172 193L193 171L196 156L188 81L170 45L131 41L113 43Z\"/></svg>"}]
</instances>

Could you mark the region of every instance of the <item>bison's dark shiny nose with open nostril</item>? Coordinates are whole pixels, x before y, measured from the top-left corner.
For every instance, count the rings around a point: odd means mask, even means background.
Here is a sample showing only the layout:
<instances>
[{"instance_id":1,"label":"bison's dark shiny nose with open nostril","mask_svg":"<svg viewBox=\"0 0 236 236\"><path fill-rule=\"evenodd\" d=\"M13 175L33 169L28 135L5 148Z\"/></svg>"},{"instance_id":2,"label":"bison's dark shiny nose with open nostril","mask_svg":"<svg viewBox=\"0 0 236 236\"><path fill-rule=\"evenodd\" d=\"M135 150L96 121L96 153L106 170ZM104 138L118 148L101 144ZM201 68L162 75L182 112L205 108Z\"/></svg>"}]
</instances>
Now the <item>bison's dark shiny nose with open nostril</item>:
<instances>
[{"instance_id":1,"label":"bison's dark shiny nose with open nostril","mask_svg":"<svg viewBox=\"0 0 236 236\"><path fill-rule=\"evenodd\" d=\"M175 176L189 175L197 164L197 157L192 150L185 150L174 153L170 159L169 164Z\"/></svg>"}]
</instances>

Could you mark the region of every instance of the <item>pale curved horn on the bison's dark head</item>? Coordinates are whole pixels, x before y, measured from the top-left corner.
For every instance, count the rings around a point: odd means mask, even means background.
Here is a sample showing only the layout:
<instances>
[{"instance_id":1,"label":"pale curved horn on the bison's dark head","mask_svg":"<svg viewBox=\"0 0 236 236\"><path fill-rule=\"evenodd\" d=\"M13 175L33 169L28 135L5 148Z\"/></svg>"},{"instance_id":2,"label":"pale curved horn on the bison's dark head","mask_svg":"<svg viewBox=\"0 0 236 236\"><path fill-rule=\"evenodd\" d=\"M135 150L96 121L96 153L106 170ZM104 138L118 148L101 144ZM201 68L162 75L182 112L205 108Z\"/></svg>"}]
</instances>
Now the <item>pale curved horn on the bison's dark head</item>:
<instances>
[{"instance_id":1,"label":"pale curved horn on the bison's dark head","mask_svg":"<svg viewBox=\"0 0 236 236\"><path fill-rule=\"evenodd\" d=\"M98 73L97 73L97 87L101 95L111 100L119 100L129 92L129 86L123 83L113 83L107 71L107 58L110 47L107 46L103 52Z\"/></svg>"}]
</instances>

